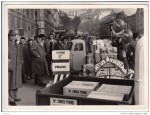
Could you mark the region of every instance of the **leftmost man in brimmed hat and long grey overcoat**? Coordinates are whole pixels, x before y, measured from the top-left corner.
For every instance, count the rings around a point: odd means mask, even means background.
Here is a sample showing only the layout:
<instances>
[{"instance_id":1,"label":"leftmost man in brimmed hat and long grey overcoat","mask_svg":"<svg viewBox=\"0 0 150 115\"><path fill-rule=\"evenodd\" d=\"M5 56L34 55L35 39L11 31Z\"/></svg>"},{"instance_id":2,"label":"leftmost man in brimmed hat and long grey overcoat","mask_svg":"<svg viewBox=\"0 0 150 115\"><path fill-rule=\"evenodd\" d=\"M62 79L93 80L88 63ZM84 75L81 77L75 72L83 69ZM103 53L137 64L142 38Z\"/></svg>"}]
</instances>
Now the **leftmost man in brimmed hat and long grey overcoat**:
<instances>
[{"instance_id":1,"label":"leftmost man in brimmed hat and long grey overcoat","mask_svg":"<svg viewBox=\"0 0 150 115\"><path fill-rule=\"evenodd\" d=\"M18 88L22 87L21 67L23 64L23 55L20 46L16 41L16 30L9 30L8 33L8 82L9 82L9 104L16 105Z\"/></svg>"}]
</instances>

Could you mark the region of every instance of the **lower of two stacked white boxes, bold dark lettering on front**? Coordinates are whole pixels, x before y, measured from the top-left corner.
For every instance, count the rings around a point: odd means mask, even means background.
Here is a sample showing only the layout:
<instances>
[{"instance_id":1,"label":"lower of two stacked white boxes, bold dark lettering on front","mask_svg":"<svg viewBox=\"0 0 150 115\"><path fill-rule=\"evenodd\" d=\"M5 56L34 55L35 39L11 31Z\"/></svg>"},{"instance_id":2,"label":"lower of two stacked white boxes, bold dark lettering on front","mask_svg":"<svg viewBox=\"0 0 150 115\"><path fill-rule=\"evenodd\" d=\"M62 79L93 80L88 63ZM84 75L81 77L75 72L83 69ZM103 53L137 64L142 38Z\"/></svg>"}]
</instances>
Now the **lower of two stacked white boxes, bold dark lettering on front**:
<instances>
[{"instance_id":1,"label":"lower of two stacked white boxes, bold dark lettering on front","mask_svg":"<svg viewBox=\"0 0 150 115\"><path fill-rule=\"evenodd\" d=\"M64 72L70 71L70 62L66 63L52 63L53 72Z\"/></svg>"}]
</instances>

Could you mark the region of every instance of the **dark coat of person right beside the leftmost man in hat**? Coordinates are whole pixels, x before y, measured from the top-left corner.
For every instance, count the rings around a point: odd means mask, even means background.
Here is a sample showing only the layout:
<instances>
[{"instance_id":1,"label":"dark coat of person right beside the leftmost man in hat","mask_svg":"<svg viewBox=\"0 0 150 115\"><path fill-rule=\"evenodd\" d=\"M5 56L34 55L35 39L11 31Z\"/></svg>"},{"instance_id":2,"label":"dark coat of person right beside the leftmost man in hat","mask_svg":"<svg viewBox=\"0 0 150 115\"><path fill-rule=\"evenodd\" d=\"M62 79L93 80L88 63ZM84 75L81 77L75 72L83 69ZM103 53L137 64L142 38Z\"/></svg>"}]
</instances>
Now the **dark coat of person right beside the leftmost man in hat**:
<instances>
[{"instance_id":1,"label":"dark coat of person right beside the leftmost man in hat","mask_svg":"<svg viewBox=\"0 0 150 115\"><path fill-rule=\"evenodd\" d=\"M23 65L22 65L22 74L30 73L30 57L27 45L23 45L20 43L20 47L23 53Z\"/></svg>"}]
</instances>

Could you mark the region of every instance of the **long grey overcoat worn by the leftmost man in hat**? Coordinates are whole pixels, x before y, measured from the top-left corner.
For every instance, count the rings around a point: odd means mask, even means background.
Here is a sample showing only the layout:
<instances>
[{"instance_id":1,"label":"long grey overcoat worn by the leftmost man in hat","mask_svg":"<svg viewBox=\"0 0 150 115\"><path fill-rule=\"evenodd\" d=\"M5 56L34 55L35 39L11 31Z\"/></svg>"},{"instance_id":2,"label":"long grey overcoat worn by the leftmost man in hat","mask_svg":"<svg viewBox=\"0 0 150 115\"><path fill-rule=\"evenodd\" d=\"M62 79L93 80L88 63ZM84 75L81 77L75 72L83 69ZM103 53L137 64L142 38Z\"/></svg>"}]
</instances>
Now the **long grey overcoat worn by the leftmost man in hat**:
<instances>
[{"instance_id":1,"label":"long grey overcoat worn by the leftmost man in hat","mask_svg":"<svg viewBox=\"0 0 150 115\"><path fill-rule=\"evenodd\" d=\"M8 42L9 68L9 89L22 87L21 67L23 64L23 54L19 44Z\"/></svg>"}]
</instances>

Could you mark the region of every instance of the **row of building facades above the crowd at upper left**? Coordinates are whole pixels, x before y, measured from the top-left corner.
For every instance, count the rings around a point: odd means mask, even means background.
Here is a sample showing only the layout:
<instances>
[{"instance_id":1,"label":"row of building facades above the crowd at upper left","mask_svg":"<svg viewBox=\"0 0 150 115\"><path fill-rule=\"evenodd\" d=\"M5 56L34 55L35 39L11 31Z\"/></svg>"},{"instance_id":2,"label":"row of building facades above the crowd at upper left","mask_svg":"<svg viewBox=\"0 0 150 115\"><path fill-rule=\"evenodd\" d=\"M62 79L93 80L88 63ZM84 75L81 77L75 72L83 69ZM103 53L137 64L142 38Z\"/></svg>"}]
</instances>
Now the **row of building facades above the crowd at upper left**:
<instances>
[{"instance_id":1,"label":"row of building facades above the crowd at upper left","mask_svg":"<svg viewBox=\"0 0 150 115\"><path fill-rule=\"evenodd\" d=\"M34 38L35 35L45 34L60 24L59 13L56 9L9 9L9 29L19 31L19 36Z\"/></svg>"}]
</instances>

